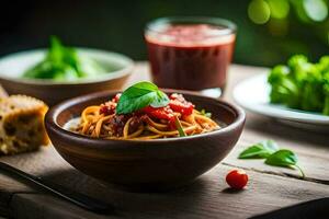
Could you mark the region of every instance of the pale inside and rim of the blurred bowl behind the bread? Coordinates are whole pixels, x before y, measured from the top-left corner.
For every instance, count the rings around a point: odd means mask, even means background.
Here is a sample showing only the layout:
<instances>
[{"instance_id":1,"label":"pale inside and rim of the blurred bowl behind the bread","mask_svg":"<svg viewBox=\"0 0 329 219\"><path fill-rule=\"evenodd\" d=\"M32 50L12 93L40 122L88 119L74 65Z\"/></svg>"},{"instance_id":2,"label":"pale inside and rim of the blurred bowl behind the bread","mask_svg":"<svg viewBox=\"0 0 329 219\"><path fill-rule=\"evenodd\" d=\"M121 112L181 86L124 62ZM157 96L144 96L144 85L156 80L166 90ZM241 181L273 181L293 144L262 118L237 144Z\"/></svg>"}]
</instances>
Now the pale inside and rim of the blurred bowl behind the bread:
<instances>
[{"instance_id":1,"label":"pale inside and rim of the blurred bowl behind the bread","mask_svg":"<svg viewBox=\"0 0 329 219\"><path fill-rule=\"evenodd\" d=\"M25 79L22 74L30 68L34 67L37 62L42 61L47 53L47 49L33 49L26 51L19 51L7 55L0 58L0 79L7 79L25 84L78 84L78 83L92 83L104 80L111 80L127 76L134 68L134 61L121 54L77 47L79 56L87 56L101 65L109 73L99 74L93 78L78 78L72 81L55 81L52 79Z\"/></svg>"}]
</instances>

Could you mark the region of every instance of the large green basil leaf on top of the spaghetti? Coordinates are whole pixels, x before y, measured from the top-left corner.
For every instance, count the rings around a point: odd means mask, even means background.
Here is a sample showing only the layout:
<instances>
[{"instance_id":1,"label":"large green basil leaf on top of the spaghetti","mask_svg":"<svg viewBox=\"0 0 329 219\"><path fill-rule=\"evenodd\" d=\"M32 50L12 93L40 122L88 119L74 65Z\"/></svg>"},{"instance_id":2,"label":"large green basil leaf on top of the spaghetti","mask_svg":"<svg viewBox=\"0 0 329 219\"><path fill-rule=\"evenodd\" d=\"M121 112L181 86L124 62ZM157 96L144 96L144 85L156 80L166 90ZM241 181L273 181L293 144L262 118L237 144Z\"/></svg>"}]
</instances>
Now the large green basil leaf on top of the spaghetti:
<instances>
[{"instance_id":1,"label":"large green basil leaf on top of the spaghetti","mask_svg":"<svg viewBox=\"0 0 329 219\"><path fill-rule=\"evenodd\" d=\"M159 88L147 81L143 81L125 90L117 103L117 114L129 114L148 105L163 107L169 104L169 97Z\"/></svg>"}]
</instances>

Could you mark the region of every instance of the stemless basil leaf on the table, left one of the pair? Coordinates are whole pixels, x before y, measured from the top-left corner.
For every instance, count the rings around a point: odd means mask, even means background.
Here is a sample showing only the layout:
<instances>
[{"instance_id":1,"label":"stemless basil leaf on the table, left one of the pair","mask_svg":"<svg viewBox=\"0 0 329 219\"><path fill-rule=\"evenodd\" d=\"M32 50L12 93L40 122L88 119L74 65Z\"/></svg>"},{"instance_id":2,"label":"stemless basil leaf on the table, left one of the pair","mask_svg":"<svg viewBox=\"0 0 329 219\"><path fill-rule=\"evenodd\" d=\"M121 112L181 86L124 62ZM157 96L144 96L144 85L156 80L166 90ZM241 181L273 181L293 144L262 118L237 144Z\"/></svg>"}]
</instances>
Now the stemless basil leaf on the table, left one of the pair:
<instances>
[{"instance_id":1,"label":"stemless basil leaf on the table, left one of the pair","mask_svg":"<svg viewBox=\"0 0 329 219\"><path fill-rule=\"evenodd\" d=\"M262 159L270 157L279 149L273 140L265 140L250 146L239 154L239 159Z\"/></svg>"}]
</instances>

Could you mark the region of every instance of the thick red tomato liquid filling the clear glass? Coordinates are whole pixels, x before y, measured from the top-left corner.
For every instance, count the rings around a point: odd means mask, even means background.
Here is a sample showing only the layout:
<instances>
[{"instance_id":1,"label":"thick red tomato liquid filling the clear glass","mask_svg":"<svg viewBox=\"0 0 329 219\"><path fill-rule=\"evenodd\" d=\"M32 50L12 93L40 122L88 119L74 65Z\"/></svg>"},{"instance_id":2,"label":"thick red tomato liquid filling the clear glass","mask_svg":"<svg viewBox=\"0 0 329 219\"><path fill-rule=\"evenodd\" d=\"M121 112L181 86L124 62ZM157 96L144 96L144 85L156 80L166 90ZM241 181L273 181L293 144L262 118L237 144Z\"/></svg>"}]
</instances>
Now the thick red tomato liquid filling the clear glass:
<instances>
[{"instance_id":1,"label":"thick red tomato liquid filling the clear glass","mask_svg":"<svg viewBox=\"0 0 329 219\"><path fill-rule=\"evenodd\" d=\"M235 33L208 24L172 24L145 38L152 79L161 88L204 90L226 83Z\"/></svg>"}]
</instances>

